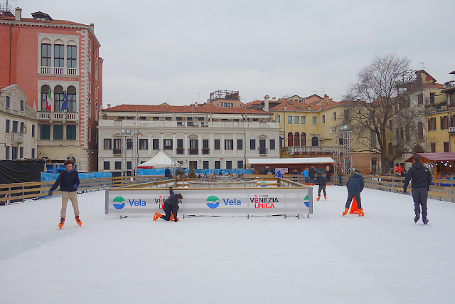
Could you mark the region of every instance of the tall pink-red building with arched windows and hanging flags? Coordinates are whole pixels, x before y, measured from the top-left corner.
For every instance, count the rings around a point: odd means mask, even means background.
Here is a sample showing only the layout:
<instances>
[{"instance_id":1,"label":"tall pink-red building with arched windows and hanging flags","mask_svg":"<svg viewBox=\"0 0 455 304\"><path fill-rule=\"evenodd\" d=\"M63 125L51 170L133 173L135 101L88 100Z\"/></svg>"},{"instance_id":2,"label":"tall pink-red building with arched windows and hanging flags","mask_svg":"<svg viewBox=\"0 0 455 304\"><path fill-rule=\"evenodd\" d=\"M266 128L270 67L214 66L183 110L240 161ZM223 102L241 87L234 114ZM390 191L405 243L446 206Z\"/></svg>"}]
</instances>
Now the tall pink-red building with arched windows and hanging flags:
<instances>
[{"instance_id":1,"label":"tall pink-red building with arched windows and hanging flags","mask_svg":"<svg viewBox=\"0 0 455 304\"><path fill-rule=\"evenodd\" d=\"M102 58L94 25L31 15L2 6L0 87L19 85L37 111L37 158L73 157L80 172L95 171Z\"/></svg>"}]
</instances>

